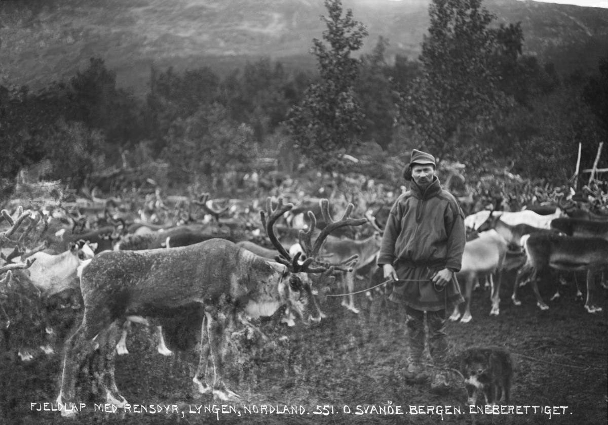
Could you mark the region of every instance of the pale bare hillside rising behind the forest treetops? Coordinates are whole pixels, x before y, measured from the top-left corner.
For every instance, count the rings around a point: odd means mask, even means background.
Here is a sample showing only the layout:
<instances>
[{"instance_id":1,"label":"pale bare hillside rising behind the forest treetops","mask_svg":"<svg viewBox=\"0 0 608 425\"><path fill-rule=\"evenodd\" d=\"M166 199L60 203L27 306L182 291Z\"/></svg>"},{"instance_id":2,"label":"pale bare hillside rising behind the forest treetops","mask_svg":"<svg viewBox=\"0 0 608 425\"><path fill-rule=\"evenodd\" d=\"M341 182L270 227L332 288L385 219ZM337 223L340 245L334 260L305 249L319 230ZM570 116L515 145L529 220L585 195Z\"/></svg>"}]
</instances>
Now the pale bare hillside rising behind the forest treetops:
<instances>
[{"instance_id":1,"label":"pale bare hillside rising behind the forest treetops","mask_svg":"<svg viewBox=\"0 0 608 425\"><path fill-rule=\"evenodd\" d=\"M428 0L344 0L370 36L390 39L389 54L415 57L428 26ZM522 21L528 52L570 72L596 66L608 51L608 9L489 0L498 22ZM0 72L37 88L68 78L100 56L121 86L141 94L150 65L210 66L216 72L271 56L313 69L311 40L324 29L322 0L47 0L0 2Z\"/></svg>"}]
</instances>

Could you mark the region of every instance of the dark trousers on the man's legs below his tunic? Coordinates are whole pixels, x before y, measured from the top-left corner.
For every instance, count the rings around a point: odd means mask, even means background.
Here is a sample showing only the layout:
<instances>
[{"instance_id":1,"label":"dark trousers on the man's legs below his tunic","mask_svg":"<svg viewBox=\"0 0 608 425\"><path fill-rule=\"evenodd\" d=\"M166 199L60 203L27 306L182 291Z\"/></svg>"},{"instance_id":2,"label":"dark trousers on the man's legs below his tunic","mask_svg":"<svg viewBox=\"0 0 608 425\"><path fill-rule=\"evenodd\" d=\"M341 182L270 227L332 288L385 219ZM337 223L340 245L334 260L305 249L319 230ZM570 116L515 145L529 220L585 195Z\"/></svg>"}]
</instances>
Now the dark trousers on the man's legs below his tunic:
<instances>
[{"instance_id":1,"label":"dark trousers on the man's legs below his tunic","mask_svg":"<svg viewBox=\"0 0 608 425\"><path fill-rule=\"evenodd\" d=\"M424 311L406 305L407 337L410 345L410 362L422 362L424 352ZM446 310L427 311L429 327L429 352L435 367L445 369L447 366L447 333Z\"/></svg>"}]
</instances>

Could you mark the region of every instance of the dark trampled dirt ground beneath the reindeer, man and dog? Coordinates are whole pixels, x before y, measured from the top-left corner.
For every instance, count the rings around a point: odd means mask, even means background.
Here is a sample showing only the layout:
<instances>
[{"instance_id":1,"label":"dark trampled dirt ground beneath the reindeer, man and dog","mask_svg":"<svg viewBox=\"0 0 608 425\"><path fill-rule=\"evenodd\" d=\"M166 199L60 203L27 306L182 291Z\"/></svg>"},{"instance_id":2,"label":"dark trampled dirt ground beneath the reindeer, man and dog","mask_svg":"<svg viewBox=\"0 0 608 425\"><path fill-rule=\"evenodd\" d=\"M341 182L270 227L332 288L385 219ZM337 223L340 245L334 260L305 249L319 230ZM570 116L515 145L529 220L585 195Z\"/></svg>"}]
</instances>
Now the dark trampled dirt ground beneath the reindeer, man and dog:
<instances>
[{"instance_id":1,"label":"dark trampled dirt ground beneath the reindeer, man and dog","mask_svg":"<svg viewBox=\"0 0 608 425\"><path fill-rule=\"evenodd\" d=\"M75 421L58 412L32 410L30 403L50 403L57 397L61 349L29 363L5 355L0 423L606 424L608 291L598 291L603 311L590 314L584 302L575 301L574 285L561 287L561 298L548 301L554 288L541 286L550 306L541 311L529 286L519 291L519 307L510 300L511 288L503 287L498 317L488 315L489 291L475 291L472 321L448 326L451 366L457 367L458 353L474 345L511 351L516 364L511 413L505 407L504 414L469 414L456 373L444 395L430 393L429 384L406 384L404 312L381 296L367 302L359 295L359 315L341 307L339 298L327 298L323 307L328 318L318 325L286 328L271 320L262 328L274 339L273 346L263 350L240 341L227 370L229 386L241 396L238 401L214 402L195 393L195 350L161 356L153 333L140 325L128 339L130 355L117 356L116 377L126 400L148 405L148 413L137 407L137 412L100 411L95 395L82 401L86 407ZM288 341L280 341L281 336ZM151 404L168 406L169 413L151 413L158 409Z\"/></svg>"}]
</instances>

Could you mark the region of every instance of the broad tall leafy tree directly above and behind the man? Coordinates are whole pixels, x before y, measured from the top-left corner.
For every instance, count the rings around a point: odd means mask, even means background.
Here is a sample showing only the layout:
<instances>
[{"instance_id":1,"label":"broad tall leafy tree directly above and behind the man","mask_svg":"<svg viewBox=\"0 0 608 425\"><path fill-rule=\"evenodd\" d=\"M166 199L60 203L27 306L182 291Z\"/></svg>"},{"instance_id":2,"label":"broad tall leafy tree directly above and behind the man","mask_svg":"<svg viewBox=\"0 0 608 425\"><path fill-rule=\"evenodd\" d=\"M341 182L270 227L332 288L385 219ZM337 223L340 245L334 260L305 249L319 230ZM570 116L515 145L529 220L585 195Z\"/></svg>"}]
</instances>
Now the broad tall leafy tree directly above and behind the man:
<instances>
[{"instance_id":1,"label":"broad tall leafy tree directly above and behind the man","mask_svg":"<svg viewBox=\"0 0 608 425\"><path fill-rule=\"evenodd\" d=\"M499 58L517 56L517 26L490 28L495 16L482 0L434 0L420 62L423 75L402 94L402 118L418 144L439 160L479 152L471 135L492 127L510 105L499 89Z\"/></svg>"}]
</instances>

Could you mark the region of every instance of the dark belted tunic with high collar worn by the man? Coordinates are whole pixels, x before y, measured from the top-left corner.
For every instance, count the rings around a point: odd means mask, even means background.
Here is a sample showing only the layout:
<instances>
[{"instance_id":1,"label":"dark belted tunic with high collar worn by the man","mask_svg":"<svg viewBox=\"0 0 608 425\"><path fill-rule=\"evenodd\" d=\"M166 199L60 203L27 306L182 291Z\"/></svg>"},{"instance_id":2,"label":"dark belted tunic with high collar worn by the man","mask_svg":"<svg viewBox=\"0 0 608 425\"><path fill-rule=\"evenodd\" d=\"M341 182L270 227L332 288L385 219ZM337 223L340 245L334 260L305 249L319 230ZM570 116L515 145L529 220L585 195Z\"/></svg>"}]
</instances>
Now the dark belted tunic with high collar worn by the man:
<instances>
[{"instance_id":1,"label":"dark belted tunic with high collar worn by the man","mask_svg":"<svg viewBox=\"0 0 608 425\"><path fill-rule=\"evenodd\" d=\"M465 250L465 218L451 193L435 177L424 191L412 183L390 211L378 265L392 264L399 281L390 299L416 310L437 311L463 302L456 277L445 287L429 279L435 272L460 270Z\"/></svg>"}]
</instances>

